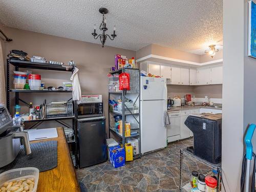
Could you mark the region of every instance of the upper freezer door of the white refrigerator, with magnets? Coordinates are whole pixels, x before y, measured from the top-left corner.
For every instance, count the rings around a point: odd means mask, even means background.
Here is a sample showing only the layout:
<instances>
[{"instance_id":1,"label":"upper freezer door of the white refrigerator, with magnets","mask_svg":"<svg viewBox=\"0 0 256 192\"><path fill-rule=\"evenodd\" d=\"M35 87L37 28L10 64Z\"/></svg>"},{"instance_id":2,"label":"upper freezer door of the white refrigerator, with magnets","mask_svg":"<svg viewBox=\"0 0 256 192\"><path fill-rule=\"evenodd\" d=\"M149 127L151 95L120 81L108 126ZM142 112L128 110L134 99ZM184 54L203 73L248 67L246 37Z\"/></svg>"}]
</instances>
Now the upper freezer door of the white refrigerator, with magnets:
<instances>
[{"instance_id":1,"label":"upper freezer door of the white refrigerator, with magnets","mask_svg":"<svg viewBox=\"0 0 256 192\"><path fill-rule=\"evenodd\" d=\"M166 79L155 77L141 77L140 94L141 100L167 99Z\"/></svg>"}]
</instances>

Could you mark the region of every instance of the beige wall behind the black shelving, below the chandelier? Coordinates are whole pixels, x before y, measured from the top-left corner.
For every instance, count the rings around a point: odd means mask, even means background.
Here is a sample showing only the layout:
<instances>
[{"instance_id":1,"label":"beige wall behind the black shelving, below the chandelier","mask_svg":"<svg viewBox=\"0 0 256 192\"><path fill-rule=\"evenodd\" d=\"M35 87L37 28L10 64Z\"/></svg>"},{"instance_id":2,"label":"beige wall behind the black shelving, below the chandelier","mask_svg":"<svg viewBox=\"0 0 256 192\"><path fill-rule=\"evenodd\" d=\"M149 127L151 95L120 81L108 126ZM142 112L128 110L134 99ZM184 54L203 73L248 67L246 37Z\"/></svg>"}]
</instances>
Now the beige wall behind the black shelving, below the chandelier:
<instances>
[{"instance_id":1,"label":"beige wall behind the black shelving, below the chandelier","mask_svg":"<svg viewBox=\"0 0 256 192\"><path fill-rule=\"evenodd\" d=\"M29 56L43 56L47 60L55 60L67 63L70 60L76 62L79 69L79 80L82 94L102 94L104 102L104 114L108 118L108 74L111 66L114 66L115 54L126 55L131 58L135 56L134 51L118 49L113 47L92 44L68 38L56 37L41 33L5 28L6 34L13 41L6 43L5 55L9 50L23 50ZM98 40L99 41L99 40ZM10 70L12 72L12 70ZM46 86L61 86L63 81L69 81L71 73L32 70L40 73L42 81ZM20 94L20 98L33 104L40 104L44 98L47 101L66 100L71 94ZM13 104L12 99L12 104ZM21 103L22 104L22 103ZM11 107L13 109L13 107ZM23 108L26 109L27 108ZM108 120L107 120L108 122ZM56 124L42 125L41 127L54 127Z\"/></svg>"}]
</instances>

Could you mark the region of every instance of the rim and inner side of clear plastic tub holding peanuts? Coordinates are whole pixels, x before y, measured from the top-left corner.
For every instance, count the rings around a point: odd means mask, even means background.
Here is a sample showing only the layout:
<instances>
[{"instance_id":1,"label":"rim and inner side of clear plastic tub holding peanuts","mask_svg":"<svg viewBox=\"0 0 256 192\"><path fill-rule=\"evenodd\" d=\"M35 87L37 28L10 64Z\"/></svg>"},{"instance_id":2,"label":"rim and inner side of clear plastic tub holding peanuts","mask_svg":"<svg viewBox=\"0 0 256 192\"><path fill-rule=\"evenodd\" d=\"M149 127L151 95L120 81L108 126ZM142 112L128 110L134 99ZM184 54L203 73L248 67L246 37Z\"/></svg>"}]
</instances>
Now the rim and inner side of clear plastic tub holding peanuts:
<instances>
[{"instance_id":1,"label":"rim and inner side of clear plastic tub holding peanuts","mask_svg":"<svg viewBox=\"0 0 256 192\"><path fill-rule=\"evenodd\" d=\"M5 182L10 182L10 181L22 179L22 178L25 178L25 179L34 178L34 188L32 192L36 192L38 178L39 178L39 170L38 168L35 168L35 167L11 169L0 174L0 187L2 187Z\"/></svg>"}]
</instances>

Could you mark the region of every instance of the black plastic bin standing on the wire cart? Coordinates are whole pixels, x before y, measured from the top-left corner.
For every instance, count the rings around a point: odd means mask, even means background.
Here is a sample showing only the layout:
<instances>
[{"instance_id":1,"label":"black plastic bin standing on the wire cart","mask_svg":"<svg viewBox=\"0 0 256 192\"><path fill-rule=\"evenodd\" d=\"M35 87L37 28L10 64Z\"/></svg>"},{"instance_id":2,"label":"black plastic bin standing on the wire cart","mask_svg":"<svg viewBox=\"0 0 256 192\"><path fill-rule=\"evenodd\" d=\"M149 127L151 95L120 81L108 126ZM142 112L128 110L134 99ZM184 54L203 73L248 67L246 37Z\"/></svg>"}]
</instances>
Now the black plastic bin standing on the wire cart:
<instances>
[{"instance_id":1,"label":"black plastic bin standing on the wire cart","mask_svg":"<svg viewBox=\"0 0 256 192\"><path fill-rule=\"evenodd\" d=\"M189 115L185 125L194 134L194 147L188 150L210 162L221 162L221 114Z\"/></svg>"}]
</instances>

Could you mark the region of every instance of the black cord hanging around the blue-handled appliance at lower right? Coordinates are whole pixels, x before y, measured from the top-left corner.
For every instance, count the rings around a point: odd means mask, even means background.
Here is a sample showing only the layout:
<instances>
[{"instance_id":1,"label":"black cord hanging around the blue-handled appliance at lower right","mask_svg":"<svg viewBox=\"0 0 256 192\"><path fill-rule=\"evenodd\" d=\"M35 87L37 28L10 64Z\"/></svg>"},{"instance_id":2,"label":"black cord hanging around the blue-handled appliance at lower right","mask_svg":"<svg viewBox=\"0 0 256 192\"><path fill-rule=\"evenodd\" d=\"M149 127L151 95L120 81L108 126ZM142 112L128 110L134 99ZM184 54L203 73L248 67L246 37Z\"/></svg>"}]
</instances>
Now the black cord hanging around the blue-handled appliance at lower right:
<instances>
[{"instance_id":1,"label":"black cord hanging around the blue-handled appliance at lower right","mask_svg":"<svg viewBox=\"0 0 256 192\"><path fill-rule=\"evenodd\" d=\"M255 173L256 173L256 155L255 153L252 153L253 156L253 172L252 172L252 181L251 181L251 192L255 192ZM241 179L240 179L240 187L241 192L244 192L244 184L245 184L245 175L246 175L246 154L244 154L243 162L242 162L242 173L241 173Z\"/></svg>"}]
</instances>

